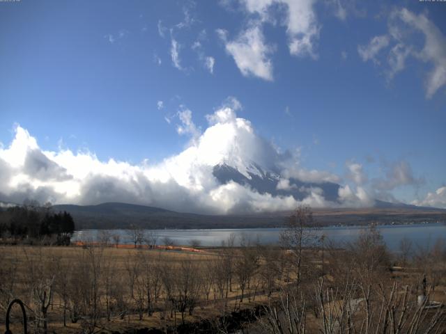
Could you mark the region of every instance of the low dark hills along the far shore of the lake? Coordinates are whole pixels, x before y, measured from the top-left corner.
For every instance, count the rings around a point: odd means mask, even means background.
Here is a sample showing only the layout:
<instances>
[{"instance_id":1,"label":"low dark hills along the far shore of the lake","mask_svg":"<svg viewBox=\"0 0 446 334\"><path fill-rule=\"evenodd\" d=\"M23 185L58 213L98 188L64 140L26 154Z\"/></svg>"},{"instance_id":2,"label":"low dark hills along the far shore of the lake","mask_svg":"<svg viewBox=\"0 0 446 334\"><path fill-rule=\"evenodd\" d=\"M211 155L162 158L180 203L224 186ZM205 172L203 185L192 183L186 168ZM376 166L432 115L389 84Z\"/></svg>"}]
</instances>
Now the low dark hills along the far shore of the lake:
<instances>
[{"instance_id":1,"label":"low dark hills along the far shore of the lake","mask_svg":"<svg viewBox=\"0 0 446 334\"><path fill-rule=\"evenodd\" d=\"M100 205L54 205L54 211L70 212L77 230L129 228L275 228L283 226L291 212L244 215L202 215L174 212L158 207L108 202ZM367 225L379 223L420 223L446 221L446 209L405 208L314 209L321 225Z\"/></svg>"}]
</instances>

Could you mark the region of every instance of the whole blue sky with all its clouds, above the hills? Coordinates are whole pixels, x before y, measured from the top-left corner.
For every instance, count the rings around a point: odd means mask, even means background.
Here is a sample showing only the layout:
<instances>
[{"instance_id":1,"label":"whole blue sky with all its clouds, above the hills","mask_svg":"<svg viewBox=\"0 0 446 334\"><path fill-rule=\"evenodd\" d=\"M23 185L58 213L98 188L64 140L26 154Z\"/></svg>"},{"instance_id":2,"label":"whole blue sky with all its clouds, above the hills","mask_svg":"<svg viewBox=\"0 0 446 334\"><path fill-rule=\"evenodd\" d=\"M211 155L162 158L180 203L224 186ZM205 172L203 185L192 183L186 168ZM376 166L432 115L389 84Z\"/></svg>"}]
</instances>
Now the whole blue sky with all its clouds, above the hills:
<instances>
[{"instance_id":1,"label":"whole blue sky with all its clouds, above the hills","mask_svg":"<svg viewBox=\"0 0 446 334\"><path fill-rule=\"evenodd\" d=\"M445 17L418 0L2 1L0 200L446 208ZM219 184L222 163L336 182L339 201Z\"/></svg>"}]
</instances>

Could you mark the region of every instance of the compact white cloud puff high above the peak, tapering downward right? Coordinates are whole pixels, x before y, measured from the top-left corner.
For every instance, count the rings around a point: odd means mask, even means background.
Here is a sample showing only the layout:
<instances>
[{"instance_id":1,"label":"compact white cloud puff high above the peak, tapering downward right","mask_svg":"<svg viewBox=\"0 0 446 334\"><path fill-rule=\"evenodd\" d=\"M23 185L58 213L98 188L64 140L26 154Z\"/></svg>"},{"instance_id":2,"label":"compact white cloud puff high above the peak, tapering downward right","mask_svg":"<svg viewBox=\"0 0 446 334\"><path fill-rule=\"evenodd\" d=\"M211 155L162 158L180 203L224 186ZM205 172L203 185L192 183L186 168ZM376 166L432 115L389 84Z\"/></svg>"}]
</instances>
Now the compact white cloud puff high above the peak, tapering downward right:
<instances>
[{"instance_id":1,"label":"compact white cloud puff high above the peak, tapering downward right","mask_svg":"<svg viewBox=\"0 0 446 334\"><path fill-rule=\"evenodd\" d=\"M217 30L217 34L245 77L254 76L272 81L270 54L274 48L266 44L260 24L252 22L235 40L228 40L227 31L222 29Z\"/></svg>"}]
</instances>

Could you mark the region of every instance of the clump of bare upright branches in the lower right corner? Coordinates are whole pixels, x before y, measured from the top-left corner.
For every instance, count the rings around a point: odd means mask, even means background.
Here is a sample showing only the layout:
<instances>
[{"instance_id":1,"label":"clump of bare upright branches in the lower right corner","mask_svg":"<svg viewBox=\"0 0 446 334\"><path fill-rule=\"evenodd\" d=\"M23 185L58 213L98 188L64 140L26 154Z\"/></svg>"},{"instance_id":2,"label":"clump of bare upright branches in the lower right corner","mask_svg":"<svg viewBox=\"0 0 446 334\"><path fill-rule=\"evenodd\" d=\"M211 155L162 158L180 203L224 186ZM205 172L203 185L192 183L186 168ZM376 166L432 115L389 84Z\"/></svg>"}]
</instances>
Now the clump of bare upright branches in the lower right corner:
<instances>
[{"instance_id":1,"label":"clump of bare upright branches in the lower right corner","mask_svg":"<svg viewBox=\"0 0 446 334\"><path fill-rule=\"evenodd\" d=\"M323 279L314 285L321 317L311 327L307 323L305 296L295 289L284 289L278 301L270 301L265 308L266 317L259 319L261 324L275 334L438 334L444 331L445 310L438 308L430 312L426 301L421 305L415 303L408 285L400 287L395 282L386 288L376 282L362 296L357 295L351 280L336 289L324 286Z\"/></svg>"}]
</instances>

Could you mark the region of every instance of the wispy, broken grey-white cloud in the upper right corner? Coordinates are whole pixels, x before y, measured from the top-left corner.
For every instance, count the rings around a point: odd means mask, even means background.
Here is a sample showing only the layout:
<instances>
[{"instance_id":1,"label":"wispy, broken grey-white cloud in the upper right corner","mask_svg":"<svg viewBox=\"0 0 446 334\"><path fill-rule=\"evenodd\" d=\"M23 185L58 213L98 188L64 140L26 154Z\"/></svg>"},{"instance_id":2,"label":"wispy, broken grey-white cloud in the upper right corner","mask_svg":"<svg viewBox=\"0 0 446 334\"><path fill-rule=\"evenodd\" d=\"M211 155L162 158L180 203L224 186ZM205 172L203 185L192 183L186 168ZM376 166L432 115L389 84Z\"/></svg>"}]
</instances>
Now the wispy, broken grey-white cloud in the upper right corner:
<instances>
[{"instance_id":1,"label":"wispy, broken grey-white cloud in the upper right corner","mask_svg":"<svg viewBox=\"0 0 446 334\"><path fill-rule=\"evenodd\" d=\"M418 40L420 36L424 43ZM406 8L393 10L388 19L388 33L375 36L369 45L359 46L358 52L363 61L380 64L378 54L388 45L392 47L387 55L387 80L404 70L407 58L412 57L431 65L424 82L426 98L430 99L446 85L446 37L426 14L417 15Z\"/></svg>"}]
</instances>

